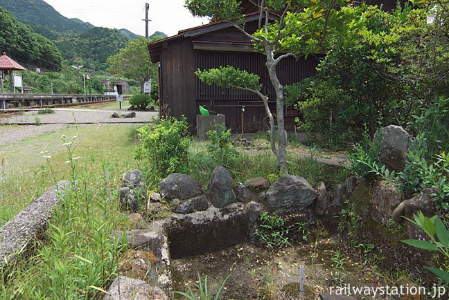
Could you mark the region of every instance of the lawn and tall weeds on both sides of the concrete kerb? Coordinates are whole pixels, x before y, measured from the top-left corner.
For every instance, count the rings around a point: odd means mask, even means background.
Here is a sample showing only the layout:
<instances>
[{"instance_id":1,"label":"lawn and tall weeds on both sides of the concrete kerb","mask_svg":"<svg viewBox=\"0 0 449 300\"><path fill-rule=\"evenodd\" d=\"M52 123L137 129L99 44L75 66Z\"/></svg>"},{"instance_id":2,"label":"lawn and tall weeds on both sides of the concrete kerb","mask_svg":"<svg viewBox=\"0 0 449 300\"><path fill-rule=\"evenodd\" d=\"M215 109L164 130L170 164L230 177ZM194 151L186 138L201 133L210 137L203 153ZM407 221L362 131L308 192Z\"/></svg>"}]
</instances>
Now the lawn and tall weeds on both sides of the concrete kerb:
<instances>
[{"instance_id":1,"label":"lawn and tall weeds on both sides of the concrete kerb","mask_svg":"<svg viewBox=\"0 0 449 300\"><path fill-rule=\"evenodd\" d=\"M126 216L120 212L118 201L112 201L109 195L116 199L119 176L136 167L132 158L135 146L132 130L127 126L78 126L2 147L2 167L9 167L1 174L2 206L9 207L3 209L3 222L58 180L78 185L62 197L44 238L36 242L36 250L3 270L1 299L103 297L116 276L124 250L111 235L113 229L126 227ZM123 140L117 142L120 135ZM111 140L107 142L99 136ZM43 144L48 147L42 148ZM6 157L10 162L20 160L23 153L16 150L25 145L28 151L37 147L48 150L34 154L42 158L37 162L6 165ZM23 174L13 177L14 168L18 167ZM38 169L33 172L35 167ZM35 176L29 176L30 172ZM35 181L21 182L27 177Z\"/></svg>"}]
</instances>

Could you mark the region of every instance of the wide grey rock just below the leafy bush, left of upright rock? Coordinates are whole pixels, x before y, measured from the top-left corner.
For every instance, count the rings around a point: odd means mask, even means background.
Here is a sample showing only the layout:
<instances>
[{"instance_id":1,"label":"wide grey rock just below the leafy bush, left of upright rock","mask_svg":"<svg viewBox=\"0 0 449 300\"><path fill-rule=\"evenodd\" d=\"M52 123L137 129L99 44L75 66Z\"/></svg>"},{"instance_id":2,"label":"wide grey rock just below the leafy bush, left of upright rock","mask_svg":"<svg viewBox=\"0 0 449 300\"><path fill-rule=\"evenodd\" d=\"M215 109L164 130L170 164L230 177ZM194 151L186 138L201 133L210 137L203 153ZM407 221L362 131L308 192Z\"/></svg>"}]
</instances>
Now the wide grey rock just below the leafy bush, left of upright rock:
<instances>
[{"instance_id":1,"label":"wide grey rock just below the leafy bush, left of upright rock","mask_svg":"<svg viewBox=\"0 0 449 300\"><path fill-rule=\"evenodd\" d=\"M172 200L175 198L185 200L204 193L201 183L191 176L173 173L159 182L161 196Z\"/></svg>"}]
</instances>

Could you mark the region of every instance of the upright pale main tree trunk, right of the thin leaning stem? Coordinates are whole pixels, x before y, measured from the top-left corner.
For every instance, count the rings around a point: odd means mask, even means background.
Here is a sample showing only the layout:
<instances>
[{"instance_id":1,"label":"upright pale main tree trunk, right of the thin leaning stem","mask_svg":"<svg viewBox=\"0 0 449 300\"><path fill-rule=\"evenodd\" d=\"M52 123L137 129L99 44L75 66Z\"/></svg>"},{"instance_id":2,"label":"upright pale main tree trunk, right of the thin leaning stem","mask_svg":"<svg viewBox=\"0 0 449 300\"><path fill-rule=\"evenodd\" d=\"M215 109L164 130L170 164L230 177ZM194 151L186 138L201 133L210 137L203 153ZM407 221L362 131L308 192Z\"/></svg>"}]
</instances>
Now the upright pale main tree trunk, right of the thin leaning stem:
<instances>
[{"instance_id":1,"label":"upright pale main tree trunk, right of the thin leaning stem","mask_svg":"<svg viewBox=\"0 0 449 300\"><path fill-rule=\"evenodd\" d=\"M265 44L265 50L267 53L267 66L268 75L270 75L270 80L273 84L274 91L276 92L276 120L277 120L277 137L278 137L278 147L276 153L276 166L279 170L284 171L285 174L288 173L287 170L287 132L284 126L284 115L283 115L283 86L277 77L276 73L276 62L274 62L273 48L271 44ZM272 129L272 136L274 132Z\"/></svg>"}]
</instances>

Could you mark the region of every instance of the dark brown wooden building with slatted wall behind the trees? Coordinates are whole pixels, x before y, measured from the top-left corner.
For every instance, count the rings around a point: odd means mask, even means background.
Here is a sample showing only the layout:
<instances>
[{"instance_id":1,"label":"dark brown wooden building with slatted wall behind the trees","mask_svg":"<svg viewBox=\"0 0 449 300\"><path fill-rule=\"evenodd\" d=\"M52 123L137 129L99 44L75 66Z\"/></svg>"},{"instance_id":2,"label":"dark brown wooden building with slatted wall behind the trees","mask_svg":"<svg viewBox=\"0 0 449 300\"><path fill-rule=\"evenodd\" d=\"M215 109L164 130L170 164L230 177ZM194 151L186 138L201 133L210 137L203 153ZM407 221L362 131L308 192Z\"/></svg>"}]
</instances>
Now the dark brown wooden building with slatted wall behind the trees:
<instances>
[{"instance_id":1,"label":"dark brown wooden building with slatted wall behind the trees","mask_svg":"<svg viewBox=\"0 0 449 300\"><path fill-rule=\"evenodd\" d=\"M390 1L371 0L385 3ZM391 7L396 6L391 1ZM245 30L254 32L258 26L258 8L249 1L242 1L246 14L243 19ZM387 8L391 9L391 8ZM270 19L279 16L273 14ZM267 115L262 100L253 93L208 86L195 75L197 69L234 66L261 77L264 95L270 99L270 108L276 113L276 95L265 67L265 55L254 51L252 42L226 21L211 21L209 24L180 30L177 35L148 44L152 62L160 62L159 100L162 115L180 118L186 115L191 131L195 131L199 106L205 106L211 113L226 116L226 126L233 131L245 132L267 129ZM312 55L307 59L288 57L277 66L281 84L288 85L315 75L319 60ZM243 106L245 106L244 112ZM299 112L286 107L285 128L294 129L294 119ZM242 121L243 117L243 121Z\"/></svg>"}]
</instances>

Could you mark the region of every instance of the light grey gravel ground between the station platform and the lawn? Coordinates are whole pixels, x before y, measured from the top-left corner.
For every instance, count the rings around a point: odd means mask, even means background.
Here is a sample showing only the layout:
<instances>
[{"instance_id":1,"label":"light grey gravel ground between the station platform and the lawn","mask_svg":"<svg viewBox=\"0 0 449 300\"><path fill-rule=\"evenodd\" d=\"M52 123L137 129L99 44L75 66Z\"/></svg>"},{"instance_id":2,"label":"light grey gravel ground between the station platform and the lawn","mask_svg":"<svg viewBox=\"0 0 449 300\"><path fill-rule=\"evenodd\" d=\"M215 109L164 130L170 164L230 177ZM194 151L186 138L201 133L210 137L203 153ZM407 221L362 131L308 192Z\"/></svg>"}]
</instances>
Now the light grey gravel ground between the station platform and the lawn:
<instances>
[{"instance_id":1,"label":"light grey gravel ground between the station platform and the lawn","mask_svg":"<svg viewBox=\"0 0 449 300\"><path fill-rule=\"evenodd\" d=\"M27 111L23 115L1 115L0 123L8 126L0 126L0 145L19 142L24 138L39 135L48 131L56 131L71 124L86 126L87 124L143 124L157 116L157 112L137 111L134 118L111 118L112 113L119 115L129 111L113 111L100 109L53 109L55 113L37 115L37 110ZM35 118L38 117L42 125L36 126Z\"/></svg>"}]
</instances>

